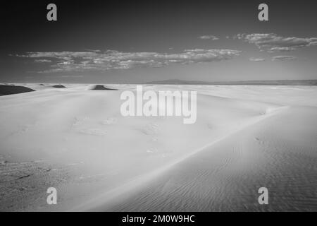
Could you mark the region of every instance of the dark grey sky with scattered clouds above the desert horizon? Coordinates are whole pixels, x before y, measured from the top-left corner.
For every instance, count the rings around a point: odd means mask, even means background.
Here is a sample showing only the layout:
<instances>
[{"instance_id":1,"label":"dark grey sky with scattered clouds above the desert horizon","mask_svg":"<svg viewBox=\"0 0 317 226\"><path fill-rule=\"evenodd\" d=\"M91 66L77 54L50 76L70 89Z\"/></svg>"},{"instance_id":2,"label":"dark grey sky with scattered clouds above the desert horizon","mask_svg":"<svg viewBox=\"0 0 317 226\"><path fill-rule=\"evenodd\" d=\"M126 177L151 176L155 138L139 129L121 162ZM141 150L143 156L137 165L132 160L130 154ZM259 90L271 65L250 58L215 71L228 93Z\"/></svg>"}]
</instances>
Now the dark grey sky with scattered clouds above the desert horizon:
<instances>
[{"instance_id":1,"label":"dark grey sky with scattered clouds above the desert horizon","mask_svg":"<svg viewBox=\"0 0 317 226\"><path fill-rule=\"evenodd\" d=\"M57 6L57 21L46 6ZM258 6L268 5L268 21ZM0 82L317 79L316 1L1 3Z\"/></svg>"}]
</instances>

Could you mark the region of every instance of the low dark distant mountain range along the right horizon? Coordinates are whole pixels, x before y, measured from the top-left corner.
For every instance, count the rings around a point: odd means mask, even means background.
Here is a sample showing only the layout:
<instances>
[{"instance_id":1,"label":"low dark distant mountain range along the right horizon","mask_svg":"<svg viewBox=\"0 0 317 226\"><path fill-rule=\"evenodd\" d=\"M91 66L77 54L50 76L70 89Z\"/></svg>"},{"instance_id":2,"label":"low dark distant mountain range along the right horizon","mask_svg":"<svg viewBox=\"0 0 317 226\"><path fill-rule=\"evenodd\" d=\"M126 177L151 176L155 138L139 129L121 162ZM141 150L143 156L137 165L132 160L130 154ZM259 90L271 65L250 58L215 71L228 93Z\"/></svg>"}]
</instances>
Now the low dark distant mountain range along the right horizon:
<instances>
[{"instance_id":1,"label":"low dark distant mountain range along the right horizon","mask_svg":"<svg viewBox=\"0 0 317 226\"><path fill-rule=\"evenodd\" d=\"M152 81L147 84L166 85L317 85L317 80L266 80L266 81L183 81L180 79L168 79L163 81Z\"/></svg>"}]
</instances>

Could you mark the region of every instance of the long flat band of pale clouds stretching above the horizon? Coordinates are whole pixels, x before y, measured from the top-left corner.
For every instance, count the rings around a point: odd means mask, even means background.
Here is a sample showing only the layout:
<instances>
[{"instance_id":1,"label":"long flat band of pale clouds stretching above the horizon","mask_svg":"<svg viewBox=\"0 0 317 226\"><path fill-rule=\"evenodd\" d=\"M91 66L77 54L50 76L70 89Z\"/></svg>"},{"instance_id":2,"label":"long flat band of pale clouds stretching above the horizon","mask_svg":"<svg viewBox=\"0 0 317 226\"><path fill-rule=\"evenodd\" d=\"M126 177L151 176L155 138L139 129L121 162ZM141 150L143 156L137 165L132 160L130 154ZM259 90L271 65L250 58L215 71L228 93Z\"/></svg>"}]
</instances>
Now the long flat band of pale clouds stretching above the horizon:
<instances>
[{"instance_id":1,"label":"long flat band of pale clouds stretching above the horizon","mask_svg":"<svg viewBox=\"0 0 317 226\"><path fill-rule=\"evenodd\" d=\"M27 57L39 62L51 62L50 69L42 71L65 72L111 69L132 69L136 67L163 67L170 64L195 64L221 61L239 56L241 51L232 49L185 49L175 54L158 52L118 52L100 50L86 52L29 52L17 57Z\"/></svg>"}]
</instances>

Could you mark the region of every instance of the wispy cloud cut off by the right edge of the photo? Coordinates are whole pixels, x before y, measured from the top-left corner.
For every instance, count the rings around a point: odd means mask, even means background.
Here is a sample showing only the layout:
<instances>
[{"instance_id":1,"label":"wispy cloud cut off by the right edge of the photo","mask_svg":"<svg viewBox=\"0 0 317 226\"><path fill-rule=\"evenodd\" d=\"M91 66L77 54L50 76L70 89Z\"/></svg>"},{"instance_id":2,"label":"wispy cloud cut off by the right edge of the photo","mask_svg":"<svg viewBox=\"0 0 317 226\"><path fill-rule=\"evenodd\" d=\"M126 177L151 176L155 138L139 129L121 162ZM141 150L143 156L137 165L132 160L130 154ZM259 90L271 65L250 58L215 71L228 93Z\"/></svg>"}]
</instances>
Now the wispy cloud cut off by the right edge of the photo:
<instances>
[{"instance_id":1,"label":"wispy cloud cut off by the right edge of the photo","mask_svg":"<svg viewBox=\"0 0 317 226\"><path fill-rule=\"evenodd\" d=\"M267 52L289 52L317 45L317 37L282 37L273 33L238 34L235 39L256 44L259 49Z\"/></svg>"}]
</instances>

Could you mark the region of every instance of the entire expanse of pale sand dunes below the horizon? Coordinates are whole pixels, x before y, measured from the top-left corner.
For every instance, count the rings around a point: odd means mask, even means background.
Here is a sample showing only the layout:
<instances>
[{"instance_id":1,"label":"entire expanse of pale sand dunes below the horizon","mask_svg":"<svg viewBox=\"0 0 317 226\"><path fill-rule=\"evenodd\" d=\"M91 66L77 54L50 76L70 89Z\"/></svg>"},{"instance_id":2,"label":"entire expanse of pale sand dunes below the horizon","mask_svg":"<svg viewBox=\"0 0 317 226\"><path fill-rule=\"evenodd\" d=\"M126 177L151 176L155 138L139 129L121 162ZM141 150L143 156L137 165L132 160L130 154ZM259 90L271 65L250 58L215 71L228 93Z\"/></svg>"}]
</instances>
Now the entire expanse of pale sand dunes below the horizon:
<instances>
[{"instance_id":1,"label":"entire expanse of pale sand dunes below the horizon","mask_svg":"<svg viewBox=\"0 0 317 226\"><path fill-rule=\"evenodd\" d=\"M122 117L135 85L18 85L36 91L0 97L1 211L317 210L316 86L144 85L197 90L183 124Z\"/></svg>"}]
</instances>

